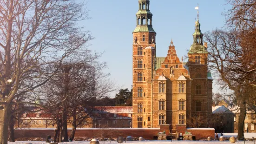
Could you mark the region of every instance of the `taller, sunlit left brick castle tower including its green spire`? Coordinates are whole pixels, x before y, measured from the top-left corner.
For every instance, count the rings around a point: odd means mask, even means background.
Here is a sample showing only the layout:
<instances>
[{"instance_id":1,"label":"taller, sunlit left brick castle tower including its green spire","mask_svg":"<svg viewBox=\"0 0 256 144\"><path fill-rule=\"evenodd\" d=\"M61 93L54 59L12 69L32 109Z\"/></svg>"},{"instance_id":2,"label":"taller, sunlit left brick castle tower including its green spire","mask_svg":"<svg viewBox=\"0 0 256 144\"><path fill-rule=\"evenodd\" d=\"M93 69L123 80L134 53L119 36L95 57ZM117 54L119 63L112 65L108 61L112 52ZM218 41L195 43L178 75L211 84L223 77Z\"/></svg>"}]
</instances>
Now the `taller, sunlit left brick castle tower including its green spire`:
<instances>
[{"instance_id":1,"label":"taller, sunlit left brick castle tower including its green spire","mask_svg":"<svg viewBox=\"0 0 256 144\"><path fill-rule=\"evenodd\" d=\"M137 26L132 45L132 127L151 127L152 78L156 56L156 32L149 0L138 0Z\"/></svg>"}]
</instances>

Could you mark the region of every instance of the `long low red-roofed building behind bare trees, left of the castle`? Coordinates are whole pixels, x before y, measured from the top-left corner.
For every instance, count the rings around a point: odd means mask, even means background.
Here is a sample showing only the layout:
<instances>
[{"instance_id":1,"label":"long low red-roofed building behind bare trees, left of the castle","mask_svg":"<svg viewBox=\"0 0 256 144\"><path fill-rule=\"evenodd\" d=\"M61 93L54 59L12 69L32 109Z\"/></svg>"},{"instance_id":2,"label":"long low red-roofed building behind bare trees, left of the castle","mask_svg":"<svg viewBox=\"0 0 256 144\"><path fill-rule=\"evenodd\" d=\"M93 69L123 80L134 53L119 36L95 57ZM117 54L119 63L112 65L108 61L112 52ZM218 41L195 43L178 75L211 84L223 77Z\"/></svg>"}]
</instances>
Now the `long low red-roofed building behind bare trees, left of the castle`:
<instances>
[{"instance_id":1,"label":"long low red-roofed building behind bare trees, left of the castle","mask_svg":"<svg viewBox=\"0 0 256 144\"><path fill-rule=\"evenodd\" d=\"M26 107L32 112L23 112L20 116L20 122L16 127L20 128L55 128L56 123L51 114L39 107ZM131 127L132 106L98 106L94 107L92 117L86 119L79 128L99 128L99 127L115 127L129 128ZM37 112L33 112L37 111ZM72 128L68 124L68 128Z\"/></svg>"}]
</instances>

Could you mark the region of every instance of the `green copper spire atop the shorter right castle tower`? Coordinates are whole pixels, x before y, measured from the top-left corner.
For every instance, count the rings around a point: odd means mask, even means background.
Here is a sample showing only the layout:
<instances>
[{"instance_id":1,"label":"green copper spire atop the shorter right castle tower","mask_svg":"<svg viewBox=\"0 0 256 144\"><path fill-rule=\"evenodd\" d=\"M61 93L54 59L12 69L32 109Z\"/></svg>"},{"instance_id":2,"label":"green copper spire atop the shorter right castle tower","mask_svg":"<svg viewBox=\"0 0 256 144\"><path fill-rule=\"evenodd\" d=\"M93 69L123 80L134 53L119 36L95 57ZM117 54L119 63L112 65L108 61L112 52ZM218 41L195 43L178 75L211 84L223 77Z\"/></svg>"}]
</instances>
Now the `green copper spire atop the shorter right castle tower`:
<instances>
[{"instance_id":1,"label":"green copper spire atop the shorter right castle tower","mask_svg":"<svg viewBox=\"0 0 256 144\"><path fill-rule=\"evenodd\" d=\"M188 53L207 53L207 49L203 46L203 33L200 30L199 20L196 21L196 30L193 33L194 42L190 46L190 51Z\"/></svg>"}]
</instances>

